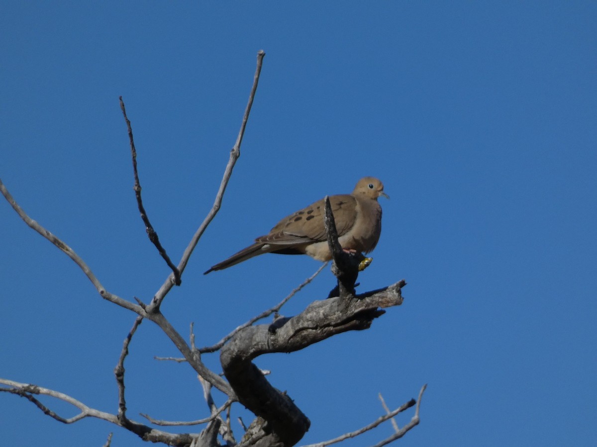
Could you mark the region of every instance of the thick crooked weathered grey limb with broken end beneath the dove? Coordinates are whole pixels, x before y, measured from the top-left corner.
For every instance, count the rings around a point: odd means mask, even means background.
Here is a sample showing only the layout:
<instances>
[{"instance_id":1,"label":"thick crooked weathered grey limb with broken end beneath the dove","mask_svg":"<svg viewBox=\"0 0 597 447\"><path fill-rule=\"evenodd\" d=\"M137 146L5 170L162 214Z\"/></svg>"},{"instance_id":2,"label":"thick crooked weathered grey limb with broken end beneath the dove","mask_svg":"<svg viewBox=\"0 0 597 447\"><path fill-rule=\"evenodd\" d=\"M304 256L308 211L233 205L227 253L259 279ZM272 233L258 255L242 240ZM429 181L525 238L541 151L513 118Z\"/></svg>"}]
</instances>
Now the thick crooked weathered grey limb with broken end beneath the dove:
<instances>
[{"instance_id":1,"label":"thick crooked weathered grey limb with broken end beneath the dove","mask_svg":"<svg viewBox=\"0 0 597 447\"><path fill-rule=\"evenodd\" d=\"M405 281L359 295L334 297L311 303L293 318L285 318L274 331L269 325L239 331L221 348L224 375L242 405L267 421L268 434L256 445L294 445L307 429L309 419L285 393L273 388L251 362L264 353L293 352L336 334L370 327L385 311L378 308L402 303Z\"/></svg>"}]
</instances>

